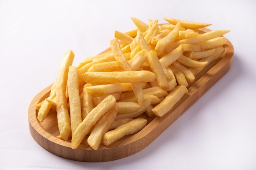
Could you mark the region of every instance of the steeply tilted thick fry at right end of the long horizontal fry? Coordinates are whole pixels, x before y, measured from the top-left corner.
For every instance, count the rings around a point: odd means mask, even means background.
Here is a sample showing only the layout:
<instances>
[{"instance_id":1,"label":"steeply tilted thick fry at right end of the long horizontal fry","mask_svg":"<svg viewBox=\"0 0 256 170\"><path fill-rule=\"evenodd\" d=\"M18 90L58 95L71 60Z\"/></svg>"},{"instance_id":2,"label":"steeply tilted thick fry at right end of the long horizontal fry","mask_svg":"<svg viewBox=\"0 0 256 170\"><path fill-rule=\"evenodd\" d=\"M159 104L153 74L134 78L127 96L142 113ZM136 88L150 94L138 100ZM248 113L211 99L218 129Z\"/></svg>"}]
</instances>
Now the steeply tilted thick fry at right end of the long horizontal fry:
<instances>
[{"instance_id":1,"label":"steeply tilted thick fry at right end of the long horizontal fry","mask_svg":"<svg viewBox=\"0 0 256 170\"><path fill-rule=\"evenodd\" d=\"M156 75L157 83L159 87L167 90L168 89L168 81L166 76L164 75L164 70L162 65L157 57L157 52L151 50L148 54L148 63L153 73Z\"/></svg>"}]
</instances>

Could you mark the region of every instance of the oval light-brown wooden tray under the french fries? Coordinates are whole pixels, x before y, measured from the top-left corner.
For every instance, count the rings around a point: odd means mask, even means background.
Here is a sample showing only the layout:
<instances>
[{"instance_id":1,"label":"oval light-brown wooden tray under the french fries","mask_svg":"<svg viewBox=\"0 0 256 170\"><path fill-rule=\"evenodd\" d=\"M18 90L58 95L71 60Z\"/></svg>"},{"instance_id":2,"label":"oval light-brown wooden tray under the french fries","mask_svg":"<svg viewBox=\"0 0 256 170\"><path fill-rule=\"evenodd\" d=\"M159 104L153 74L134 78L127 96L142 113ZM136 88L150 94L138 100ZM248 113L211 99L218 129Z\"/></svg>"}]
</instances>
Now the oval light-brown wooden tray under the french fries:
<instances>
[{"instance_id":1,"label":"oval light-brown wooden tray under the french fries","mask_svg":"<svg viewBox=\"0 0 256 170\"><path fill-rule=\"evenodd\" d=\"M208 32L210 30L204 28L202 31ZM36 142L45 148L45 150L71 160L103 162L121 159L135 154L148 146L230 70L234 48L229 40L224 47L225 51L221 57L213 61L213 63L208 65L196 76L195 81L188 86L188 94L183 96L171 111L163 117L153 116L152 118L148 118L142 115L141 117L148 120L148 125L144 129L134 135L128 135L110 146L101 145L98 150L93 150L87 144L87 137L85 137L83 142L73 150L71 148L71 141L63 141L56 138L59 135L56 112L49 113L43 122L38 122L38 111L36 111L35 106L49 96L52 85L49 85L37 94L29 105L28 119L30 133Z\"/></svg>"}]
</instances>

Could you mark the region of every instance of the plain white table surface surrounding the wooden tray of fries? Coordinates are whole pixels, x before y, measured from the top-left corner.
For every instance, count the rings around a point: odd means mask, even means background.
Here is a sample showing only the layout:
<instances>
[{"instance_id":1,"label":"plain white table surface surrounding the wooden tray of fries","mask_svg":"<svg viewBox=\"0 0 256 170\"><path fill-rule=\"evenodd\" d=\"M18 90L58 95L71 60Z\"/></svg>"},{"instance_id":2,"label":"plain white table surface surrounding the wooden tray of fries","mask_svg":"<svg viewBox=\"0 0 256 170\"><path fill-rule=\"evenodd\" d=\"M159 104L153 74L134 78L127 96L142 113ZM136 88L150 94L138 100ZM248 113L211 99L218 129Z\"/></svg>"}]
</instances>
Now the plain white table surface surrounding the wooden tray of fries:
<instances>
[{"instance_id":1,"label":"plain white table surface surrounding the wooden tray of fries","mask_svg":"<svg viewBox=\"0 0 256 170\"><path fill-rule=\"evenodd\" d=\"M256 169L256 1L0 1L0 169ZM229 72L139 153L103 163L64 159L29 132L32 98L56 78L63 54L74 65L109 47L130 17L173 17L231 30Z\"/></svg>"}]
</instances>

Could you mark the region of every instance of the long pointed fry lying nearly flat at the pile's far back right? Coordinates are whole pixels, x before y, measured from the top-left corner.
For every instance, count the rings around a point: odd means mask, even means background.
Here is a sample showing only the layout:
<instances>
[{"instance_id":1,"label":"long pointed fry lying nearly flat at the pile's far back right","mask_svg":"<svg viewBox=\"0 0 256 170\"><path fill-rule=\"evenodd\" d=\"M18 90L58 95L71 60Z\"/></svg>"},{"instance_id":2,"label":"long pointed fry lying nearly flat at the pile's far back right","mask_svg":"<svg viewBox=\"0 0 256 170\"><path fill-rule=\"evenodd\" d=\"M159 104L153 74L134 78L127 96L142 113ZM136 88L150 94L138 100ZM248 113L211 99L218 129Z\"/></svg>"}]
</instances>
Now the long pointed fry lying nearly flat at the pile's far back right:
<instances>
[{"instance_id":1,"label":"long pointed fry lying nearly flat at the pile's far back right","mask_svg":"<svg viewBox=\"0 0 256 170\"><path fill-rule=\"evenodd\" d=\"M207 23L200 23L200 22L191 22L191 21L184 21L184 20L177 20L174 18L168 18L164 17L164 20L168 21L169 23L176 25L178 22L180 22L181 26L184 28L189 29L198 29L198 28L204 28L206 26L210 26L211 24Z\"/></svg>"}]
</instances>

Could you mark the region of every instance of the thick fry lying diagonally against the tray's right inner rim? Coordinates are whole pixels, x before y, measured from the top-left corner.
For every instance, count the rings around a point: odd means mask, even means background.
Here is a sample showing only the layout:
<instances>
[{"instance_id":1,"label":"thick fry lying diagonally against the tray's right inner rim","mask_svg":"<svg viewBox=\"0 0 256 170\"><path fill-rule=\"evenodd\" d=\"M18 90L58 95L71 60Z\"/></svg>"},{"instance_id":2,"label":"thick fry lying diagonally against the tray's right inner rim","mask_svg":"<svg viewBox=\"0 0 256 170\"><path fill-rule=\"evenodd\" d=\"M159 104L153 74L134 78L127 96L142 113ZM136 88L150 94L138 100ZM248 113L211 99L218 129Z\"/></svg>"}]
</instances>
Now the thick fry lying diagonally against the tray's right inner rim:
<instances>
[{"instance_id":1,"label":"thick fry lying diagonally against the tray's right inner rim","mask_svg":"<svg viewBox=\"0 0 256 170\"><path fill-rule=\"evenodd\" d=\"M173 106L180 101L180 99L188 93L188 89L185 86L175 87L164 100L155 106L152 111L157 116L164 116L168 111L170 111Z\"/></svg>"}]
</instances>

